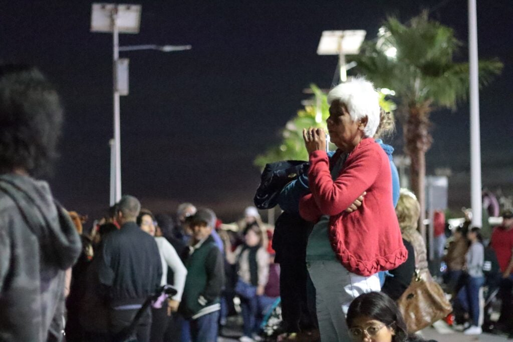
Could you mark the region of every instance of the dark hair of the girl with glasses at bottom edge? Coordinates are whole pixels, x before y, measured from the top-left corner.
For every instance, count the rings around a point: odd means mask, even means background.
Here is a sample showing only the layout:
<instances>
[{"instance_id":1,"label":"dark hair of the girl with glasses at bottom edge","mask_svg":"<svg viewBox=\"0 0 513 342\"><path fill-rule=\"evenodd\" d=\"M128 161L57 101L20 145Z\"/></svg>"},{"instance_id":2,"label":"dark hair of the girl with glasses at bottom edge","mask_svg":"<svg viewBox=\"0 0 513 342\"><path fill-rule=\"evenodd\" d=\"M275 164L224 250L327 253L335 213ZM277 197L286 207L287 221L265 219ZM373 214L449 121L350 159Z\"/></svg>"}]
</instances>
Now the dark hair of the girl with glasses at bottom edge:
<instances>
[{"instance_id":1,"label":"dark hair of the girl with glasses at bottom edge","mask_svg":"<svg viewBox=\"0 0 513 342\"><path fill-rule=\"evenodd\" d=\"M389 296L382 292L364 293L354 299L347 311L346 321L349 328L358 317L367 316L383 322L394 330L392 342L407 341L408 333L403 316Z\"/></svg>"}]
</instances>

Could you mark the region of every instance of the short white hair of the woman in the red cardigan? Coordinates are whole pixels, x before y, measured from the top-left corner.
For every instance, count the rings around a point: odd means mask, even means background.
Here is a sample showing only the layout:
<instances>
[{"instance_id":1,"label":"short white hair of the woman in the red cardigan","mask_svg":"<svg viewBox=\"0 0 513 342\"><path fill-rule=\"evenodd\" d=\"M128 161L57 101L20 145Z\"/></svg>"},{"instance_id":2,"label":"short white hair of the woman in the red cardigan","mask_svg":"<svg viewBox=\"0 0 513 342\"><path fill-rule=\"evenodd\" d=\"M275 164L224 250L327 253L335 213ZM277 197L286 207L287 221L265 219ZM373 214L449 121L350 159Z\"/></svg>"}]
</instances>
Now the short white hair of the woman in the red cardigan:
<instances>
[{"instance_id":1,"label":"short white hair of the woman in the red cardigan","mask_svg":"<svg viewBox=\"0 0 513 342\"><path fill-rule=\"evenodd\" d=\"M367 116L367 126L363 130L365 137L376 134L380 125L380 104L372 83L364 78L354 78L339 84L328 93L328 104L335 100L347 107L353 121Z\"/></svg>"}]
</instances>

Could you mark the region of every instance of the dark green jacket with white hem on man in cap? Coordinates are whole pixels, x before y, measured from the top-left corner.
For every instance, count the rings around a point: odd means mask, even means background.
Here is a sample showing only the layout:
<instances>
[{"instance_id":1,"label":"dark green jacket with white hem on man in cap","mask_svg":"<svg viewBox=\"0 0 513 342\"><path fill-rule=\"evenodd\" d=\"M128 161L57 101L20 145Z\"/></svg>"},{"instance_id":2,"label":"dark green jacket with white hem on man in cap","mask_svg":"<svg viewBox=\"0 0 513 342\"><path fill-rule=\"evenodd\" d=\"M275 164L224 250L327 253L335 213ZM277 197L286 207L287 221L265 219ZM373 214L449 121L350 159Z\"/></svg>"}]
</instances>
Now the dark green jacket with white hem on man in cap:
<instances>
[{"instance_id":1,"label":"dark green jacket with white hem on man in cap","mask_svg":"<svg viewBox=\"0 0 513 342\"><path fill-rule=\"evenodd\" d=\"M180 304L180 311L193 319L221 309L224 286L223 256L212 236L195 247L184 261L187 278Z\"/></svg>"}]
</instances>

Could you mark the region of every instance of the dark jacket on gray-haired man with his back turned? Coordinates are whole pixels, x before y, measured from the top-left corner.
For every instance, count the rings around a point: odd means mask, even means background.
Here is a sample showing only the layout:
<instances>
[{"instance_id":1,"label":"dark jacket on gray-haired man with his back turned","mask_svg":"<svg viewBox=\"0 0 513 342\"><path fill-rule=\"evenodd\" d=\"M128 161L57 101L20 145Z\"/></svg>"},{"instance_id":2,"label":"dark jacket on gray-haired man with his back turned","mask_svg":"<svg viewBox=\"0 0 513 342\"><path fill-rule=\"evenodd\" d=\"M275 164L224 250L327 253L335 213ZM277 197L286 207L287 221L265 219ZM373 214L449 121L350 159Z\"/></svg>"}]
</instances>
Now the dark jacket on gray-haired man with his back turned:
<instances>
[{"instance_id":1,"label":"dark jacket on gray-haired man with his back turned","mask_svg":"<svg viewBox=\"0 0 513 342\"><path fill-rule=\"evenodd\" d=\"M162 278L155 239L135 222L125 223L104 240L98 277L108 287L110 307L142 304Z\"/></svg>"}]
</instances>

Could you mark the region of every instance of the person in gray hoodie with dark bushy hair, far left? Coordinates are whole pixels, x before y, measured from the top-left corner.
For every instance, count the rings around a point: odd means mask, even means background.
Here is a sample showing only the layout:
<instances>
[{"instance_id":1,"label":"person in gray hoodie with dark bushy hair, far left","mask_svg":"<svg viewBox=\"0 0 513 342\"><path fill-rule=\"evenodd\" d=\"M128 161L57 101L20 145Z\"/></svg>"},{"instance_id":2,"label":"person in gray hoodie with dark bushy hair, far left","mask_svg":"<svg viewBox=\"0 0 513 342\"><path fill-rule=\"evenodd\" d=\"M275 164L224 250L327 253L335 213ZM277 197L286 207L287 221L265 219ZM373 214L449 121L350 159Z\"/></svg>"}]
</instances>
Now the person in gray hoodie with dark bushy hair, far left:
<instances>
[{"instance_id":1,"label":"person in gray hoodie with dark bushy hair, far left","mask_svg":"<svg viewBox=\"0 0 513 342\"><path fill-rule=\"evenodd\" d=\"M61 340L65 271L82 245L48 184L63 120L35 68L0 66L0 340Z\"/></svg>"}]
</instances>

